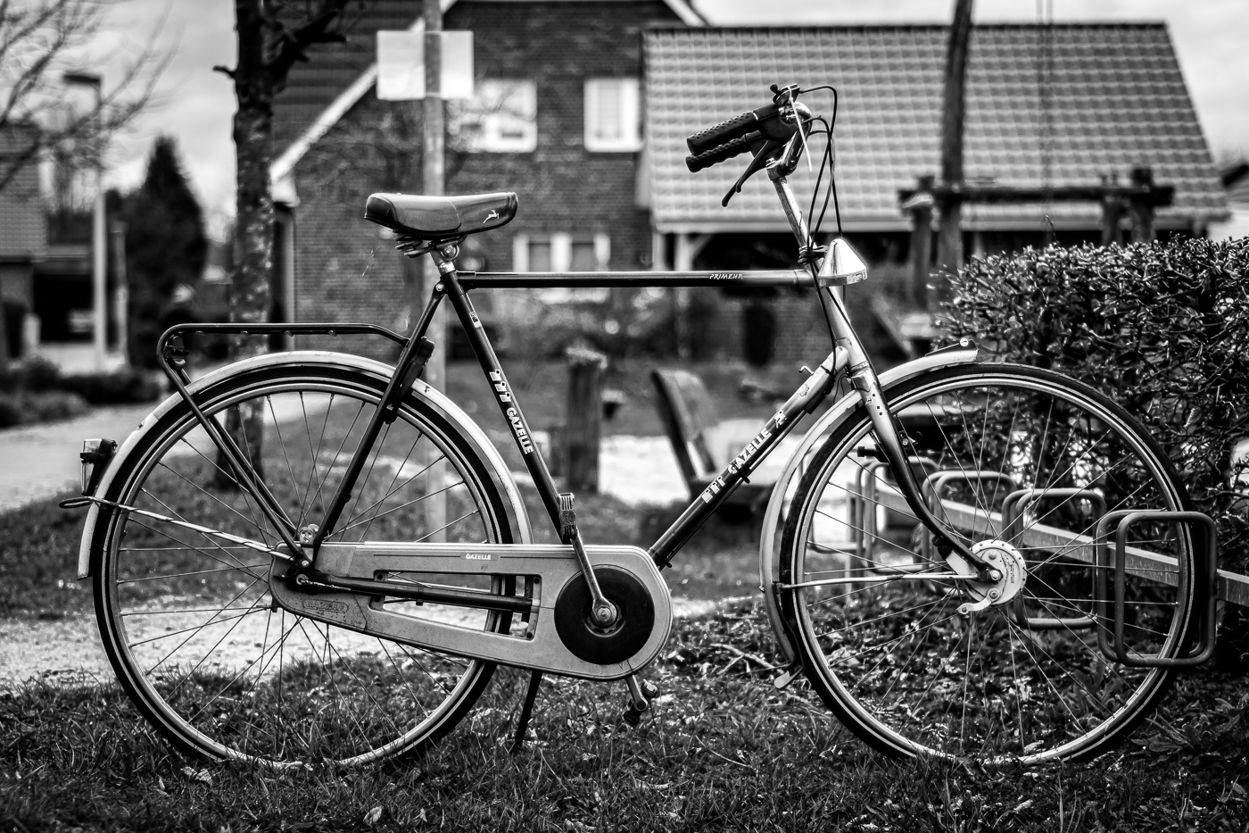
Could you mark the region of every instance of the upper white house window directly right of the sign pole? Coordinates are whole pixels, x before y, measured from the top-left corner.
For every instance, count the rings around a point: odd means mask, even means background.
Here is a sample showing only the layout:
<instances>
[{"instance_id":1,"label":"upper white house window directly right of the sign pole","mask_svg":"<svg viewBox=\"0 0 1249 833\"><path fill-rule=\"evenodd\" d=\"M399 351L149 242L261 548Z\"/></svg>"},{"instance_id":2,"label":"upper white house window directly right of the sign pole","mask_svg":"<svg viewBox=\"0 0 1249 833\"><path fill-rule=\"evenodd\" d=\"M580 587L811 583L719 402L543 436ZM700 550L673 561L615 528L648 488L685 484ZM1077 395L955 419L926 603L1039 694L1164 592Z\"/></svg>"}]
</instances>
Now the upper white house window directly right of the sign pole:
<instances>
[{"instance_id":1,"label":"upper white house window directly right of the sign pole","mask_svg":"<svg viewBox=\"0 0 1249 833\"><path fill-rule=\"evenodd\" d=\"M452 143L468 153L532 153L538 146L537 101L533 81L483 80L472 99L448 101Z\"/></svg>"}]
</instances>

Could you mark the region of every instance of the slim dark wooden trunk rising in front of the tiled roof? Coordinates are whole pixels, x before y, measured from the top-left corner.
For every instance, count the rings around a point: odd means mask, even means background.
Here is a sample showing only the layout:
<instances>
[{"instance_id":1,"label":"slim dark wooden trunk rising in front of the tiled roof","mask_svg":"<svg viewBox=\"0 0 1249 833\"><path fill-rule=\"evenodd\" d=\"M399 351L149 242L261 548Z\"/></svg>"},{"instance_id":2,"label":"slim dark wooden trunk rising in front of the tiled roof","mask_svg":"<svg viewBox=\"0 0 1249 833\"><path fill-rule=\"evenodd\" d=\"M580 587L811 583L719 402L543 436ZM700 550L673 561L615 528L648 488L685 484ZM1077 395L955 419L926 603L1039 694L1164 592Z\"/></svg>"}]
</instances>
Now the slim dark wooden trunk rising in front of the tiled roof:
<instances>
[{"instance_id":1,"label":"slim dark wooden trunk rising in front of the tiled roof","mask_svg":"<svg viewBox=\"0 0 1249 833\"><path fill-rule=\"evenodd\" d=\"M949 29L949 45L945 50L945 95L940 120L940 179L947 188L963 184L963 114L970 39L972 0L955 0L954 23ZM958 195L940 201L937 233L939 269L957 270L963 265L962 203Z\"/></svg>"}]
</instances>

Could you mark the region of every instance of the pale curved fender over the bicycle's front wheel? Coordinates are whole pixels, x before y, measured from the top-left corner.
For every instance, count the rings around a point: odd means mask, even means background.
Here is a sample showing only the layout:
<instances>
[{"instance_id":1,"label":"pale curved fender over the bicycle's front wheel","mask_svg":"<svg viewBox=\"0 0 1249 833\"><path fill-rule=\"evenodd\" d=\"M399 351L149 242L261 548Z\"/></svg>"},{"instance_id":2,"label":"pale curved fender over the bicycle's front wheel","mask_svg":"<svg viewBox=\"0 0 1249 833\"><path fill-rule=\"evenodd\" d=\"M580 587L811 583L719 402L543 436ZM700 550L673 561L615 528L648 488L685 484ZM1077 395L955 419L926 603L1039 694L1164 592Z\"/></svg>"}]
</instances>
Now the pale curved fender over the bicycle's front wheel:
<instances>
[{"instance_id":1,"label":"pale curved fender over the bicycle's front wheel","mask_svg":"<svg viewBox=\"0 0 1249 833\"><path fill-rule=\"evenodd\" d=\"M949 368L959 364L970 364L979 358L979 350L942 350L929 353L926 356L913 359L897 368L881 374L881 386L888 389L901 381L914 379L916 376ZM798 654L789 642L784 620L781 617L781 605L774 595L773 587L781 572L781 535L784 530L784 522L789 500L793 498L794 488L801 479L804 460L809 454L824 442L836 428L838 428L851 411L859 404L857 393L849 393L829 408L807 432L802 443L794 449L786 462L781 477L777 478L772 489L772 498L768 500L768 509L763 515L763 534L759 538L759 589L763 592L763 605L768 612L768 620L772 623L772 633L776 634L777 647L788 663L794 663Z\"/></svg>"}]
</instances>

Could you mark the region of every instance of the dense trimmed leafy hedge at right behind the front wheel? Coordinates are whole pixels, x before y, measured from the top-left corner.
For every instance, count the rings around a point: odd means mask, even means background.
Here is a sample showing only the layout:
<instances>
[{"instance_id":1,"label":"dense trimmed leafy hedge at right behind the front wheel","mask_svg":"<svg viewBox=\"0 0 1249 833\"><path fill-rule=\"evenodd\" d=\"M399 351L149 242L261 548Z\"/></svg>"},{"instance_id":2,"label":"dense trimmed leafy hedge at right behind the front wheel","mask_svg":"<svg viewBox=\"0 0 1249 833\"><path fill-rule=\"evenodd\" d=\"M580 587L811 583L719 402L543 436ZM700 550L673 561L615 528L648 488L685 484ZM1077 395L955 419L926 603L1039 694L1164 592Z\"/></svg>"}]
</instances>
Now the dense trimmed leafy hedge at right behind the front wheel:
<instances>
[{"instance_id":1,"label":"dense trimmed leafy hedge at right behind the front wheel","mask_svg":"<svg viewBox=\"0 0 1249 833\"><path fill-rule=\"evenodd\" d=\"M944 328L1005 359L1063 370L1137 415L1249 568L1249 238L1050 246L950 276Z\"/></svg>"}]
</instances>

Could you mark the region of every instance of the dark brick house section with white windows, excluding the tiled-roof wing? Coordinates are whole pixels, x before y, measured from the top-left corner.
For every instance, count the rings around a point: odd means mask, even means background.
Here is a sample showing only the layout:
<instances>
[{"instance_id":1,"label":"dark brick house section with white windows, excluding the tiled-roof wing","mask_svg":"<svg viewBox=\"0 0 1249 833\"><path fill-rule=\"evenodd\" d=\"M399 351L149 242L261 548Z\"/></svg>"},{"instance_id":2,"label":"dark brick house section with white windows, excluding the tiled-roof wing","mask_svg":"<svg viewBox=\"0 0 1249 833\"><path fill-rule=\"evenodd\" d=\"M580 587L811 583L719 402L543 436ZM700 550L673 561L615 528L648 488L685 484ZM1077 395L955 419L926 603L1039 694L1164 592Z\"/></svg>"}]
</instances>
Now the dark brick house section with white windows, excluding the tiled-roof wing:
<instances>
[{"instance_id":1,"label":"dark brick house section with white windows, excluding the tiled-roof wing","mask_svg":"<svg viewBox=\"0 0 1249 833\"><path fill-rule=\"evenodd\" d=\"M418 16L415 0L371 4L345 44L317 46L295 68L275 104L279 316L290 306L301 321L402 324L408 266L388 233L361 218L372 191L421 191L420 103L373 94L376 33ZM649 216L636 193L642 35L657 25L703 20L684 0L446 8L446 30L473 33L478 93L475 104L448 104L446 191L513 190L521 204L501 233L470 238L478 268L649 265Z\"/></svg>"}]
</instances>

